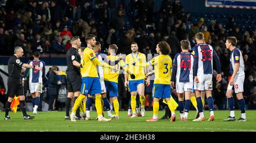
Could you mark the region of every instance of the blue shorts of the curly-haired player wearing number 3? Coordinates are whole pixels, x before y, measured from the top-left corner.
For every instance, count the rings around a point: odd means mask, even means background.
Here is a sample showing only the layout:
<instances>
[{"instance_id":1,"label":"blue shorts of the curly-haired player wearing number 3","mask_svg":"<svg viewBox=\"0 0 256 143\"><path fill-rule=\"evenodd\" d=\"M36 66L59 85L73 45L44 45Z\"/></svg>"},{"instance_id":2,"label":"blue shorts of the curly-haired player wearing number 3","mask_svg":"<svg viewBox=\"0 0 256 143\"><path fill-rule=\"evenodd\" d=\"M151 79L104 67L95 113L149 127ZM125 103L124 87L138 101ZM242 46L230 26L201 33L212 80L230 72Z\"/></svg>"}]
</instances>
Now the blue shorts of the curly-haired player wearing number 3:
<instances>
[{"instance_id":1,"label":"blue shorts of the curly-haired player wearing number 3","mask_svg":"<svg viewBox=\"0 0 256 143\"><path fill-rule=\"evenodd\" d=\"M171 98L171 85L154 84L152 96L154 98Z\"/></svg>"}]
</instances>

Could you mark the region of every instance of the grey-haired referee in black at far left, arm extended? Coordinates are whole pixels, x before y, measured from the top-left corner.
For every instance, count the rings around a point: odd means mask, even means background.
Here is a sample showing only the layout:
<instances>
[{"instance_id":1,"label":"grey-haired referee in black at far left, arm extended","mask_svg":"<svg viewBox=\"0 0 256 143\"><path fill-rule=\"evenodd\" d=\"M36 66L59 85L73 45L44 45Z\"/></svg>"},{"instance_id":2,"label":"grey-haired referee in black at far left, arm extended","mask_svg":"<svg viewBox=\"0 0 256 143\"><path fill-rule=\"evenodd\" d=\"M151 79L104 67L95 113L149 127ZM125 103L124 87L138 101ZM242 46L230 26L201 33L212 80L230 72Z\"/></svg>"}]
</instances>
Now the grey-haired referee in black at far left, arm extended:
<instances>
[{"instance_id":1,"label":"grey-haired referee in black at far left, arm extended","mask_svg":"<svg viewBox=\"0 0 256 143\"><path fill-rule=\"evenodd\" d=\"M28 64L24 64L20 61L20 57L23 56L23 49L22 47L15 47L14 48L14 55L9 58L8 61L8 80L7 80L7 95L9 96L6 105L5 105L5 120L10 120L9 110L11 106L11 102L13 102L14 96L19 96L19 105L20 109L23 113L23 119L34 119L34 116L27 115L26 106L25 106L25 96L24 96L24 89L22 85L22 74L21 69L22 66L24 68L31 68L42 70L42 68L38 66L32 66Z\"/></svg>"}]
</instances>

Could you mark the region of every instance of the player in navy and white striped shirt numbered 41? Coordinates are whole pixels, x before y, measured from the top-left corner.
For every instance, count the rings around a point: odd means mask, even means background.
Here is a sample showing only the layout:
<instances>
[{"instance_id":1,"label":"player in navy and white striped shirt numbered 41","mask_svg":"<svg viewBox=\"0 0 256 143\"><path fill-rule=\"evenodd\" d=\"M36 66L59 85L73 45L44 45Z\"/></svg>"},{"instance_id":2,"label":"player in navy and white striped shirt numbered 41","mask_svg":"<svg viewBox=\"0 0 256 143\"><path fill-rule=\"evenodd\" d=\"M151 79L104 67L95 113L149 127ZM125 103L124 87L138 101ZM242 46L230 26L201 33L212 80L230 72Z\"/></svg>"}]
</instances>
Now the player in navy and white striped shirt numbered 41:
<instances>
[{"instance_id":1,"label":"player in navy and white striped shirt numbered 41","mask_svg":"<svg viewBox=\"0 0 256 143\"><path fill-rule=\"evenodd\" d=\"M190 108L190 98L193 89L193 55L188 52L189 41L180 41L181 53L177 53L174 57L174 64L171 75L171 86L175 87L179 99L180 120L188 120L188 112ZM185 92L185 93L184 93ZM185 94L185 112L184 112L184 94ZM184 113L183 113L184 112Z\"/></svg>"}]
</instances>

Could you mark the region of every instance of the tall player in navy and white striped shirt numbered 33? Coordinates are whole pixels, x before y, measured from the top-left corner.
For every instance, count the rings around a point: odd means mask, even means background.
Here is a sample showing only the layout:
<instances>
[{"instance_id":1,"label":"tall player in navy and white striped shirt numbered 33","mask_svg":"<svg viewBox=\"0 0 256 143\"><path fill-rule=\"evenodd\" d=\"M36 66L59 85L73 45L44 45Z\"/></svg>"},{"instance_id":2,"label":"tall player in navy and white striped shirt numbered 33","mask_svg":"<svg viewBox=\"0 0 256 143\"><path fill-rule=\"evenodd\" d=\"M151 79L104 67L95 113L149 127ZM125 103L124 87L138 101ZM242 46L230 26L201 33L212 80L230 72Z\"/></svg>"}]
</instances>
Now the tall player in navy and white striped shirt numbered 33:
<instances>
[{"instance_id":1,"label":"tall player in navy and white striped shirt numbered 33","mask_svg":"<svg viewBox=\"0 0 256 143\"><path fill-rule=\"evenodd\" d=\"M193 121L204 121L203 104L201 100L201 91L205 90L207 102L209 104L210 117L208 121L214 120L214 105L212 98L212 73L213 60L217 68L217 82L221 81L220 60L211 45L204 42L204 34L199 32L195 35L197 45L193 47L194 65L193 74L195 75L195 90L197 108L199 110L199 117Z\"/></svg>"}]
</instances>

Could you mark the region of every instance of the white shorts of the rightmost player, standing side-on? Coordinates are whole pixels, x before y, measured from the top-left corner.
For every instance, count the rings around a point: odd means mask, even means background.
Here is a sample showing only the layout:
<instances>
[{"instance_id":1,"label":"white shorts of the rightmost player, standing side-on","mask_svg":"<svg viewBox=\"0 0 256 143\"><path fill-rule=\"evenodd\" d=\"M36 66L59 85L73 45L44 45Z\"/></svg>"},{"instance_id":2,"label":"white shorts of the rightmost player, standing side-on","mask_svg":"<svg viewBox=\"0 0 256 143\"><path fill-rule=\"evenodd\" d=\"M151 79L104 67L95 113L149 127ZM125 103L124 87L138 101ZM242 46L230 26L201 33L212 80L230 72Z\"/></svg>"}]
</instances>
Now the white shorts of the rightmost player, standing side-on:
<instances>
[{"instance_id":1,"label":"white shorts of the rightmost player, standing side-on","mask_svg":"<svg viewBox=\"0 0 256 143\"><path fill-rule=\"evenodd\" d=\"M234 85L231 86L228 83L228 90L234 90L237 94L238 92L243 92L243 82L245 81L245 75L242 77L235 77L234 78ZM233 89L234 87L234 89Z\"/></svg>"}]
</instances>

